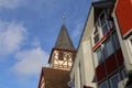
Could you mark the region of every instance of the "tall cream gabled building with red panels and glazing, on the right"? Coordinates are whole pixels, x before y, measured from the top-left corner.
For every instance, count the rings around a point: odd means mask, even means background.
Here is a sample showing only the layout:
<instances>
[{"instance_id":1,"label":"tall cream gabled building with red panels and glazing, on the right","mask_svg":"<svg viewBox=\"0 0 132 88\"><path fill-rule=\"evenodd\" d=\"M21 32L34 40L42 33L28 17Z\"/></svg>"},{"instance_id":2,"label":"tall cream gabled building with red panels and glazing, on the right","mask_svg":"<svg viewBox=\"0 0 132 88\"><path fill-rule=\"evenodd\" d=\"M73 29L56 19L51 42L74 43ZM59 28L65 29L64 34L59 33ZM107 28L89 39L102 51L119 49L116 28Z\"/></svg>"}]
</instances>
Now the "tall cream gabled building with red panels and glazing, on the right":
<instances>
[{"instance_id":1,"label":"tall cream gabled building with red panels and glazing, on the right","mask_svg":"<svg viewBox=\"0 0 132 88\"><path fill-rule=\"evenodd\" d=\"M81 34L70 80L75 88L132 88L131 79L132 0L95 1Z\"/></svg>"}]
</instances>

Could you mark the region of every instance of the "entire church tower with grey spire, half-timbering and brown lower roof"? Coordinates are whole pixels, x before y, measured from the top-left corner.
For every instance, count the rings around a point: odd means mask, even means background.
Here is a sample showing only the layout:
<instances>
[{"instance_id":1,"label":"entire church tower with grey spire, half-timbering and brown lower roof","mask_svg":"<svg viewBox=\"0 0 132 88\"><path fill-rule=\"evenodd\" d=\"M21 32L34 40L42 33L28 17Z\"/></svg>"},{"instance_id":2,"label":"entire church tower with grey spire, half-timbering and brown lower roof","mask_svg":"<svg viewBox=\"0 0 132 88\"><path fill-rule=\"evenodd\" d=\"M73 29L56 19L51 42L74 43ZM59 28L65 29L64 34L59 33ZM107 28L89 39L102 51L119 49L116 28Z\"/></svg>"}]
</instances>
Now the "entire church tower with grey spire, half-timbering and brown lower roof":
<instances>
[{"instance_id":1,"label":"entire church tower with grey spire, half-timbering and brown lower roof","mask_svg":"<svg viewBox=\"0 0 132 88\"><path fill-rule=\"evenodd\" d=\"M65 19L65 16L63 16ZM76 50L63 23L48 59L50 67L42 67L38 88L69 88L69 72Z\"/></svg>"}]
</instances>

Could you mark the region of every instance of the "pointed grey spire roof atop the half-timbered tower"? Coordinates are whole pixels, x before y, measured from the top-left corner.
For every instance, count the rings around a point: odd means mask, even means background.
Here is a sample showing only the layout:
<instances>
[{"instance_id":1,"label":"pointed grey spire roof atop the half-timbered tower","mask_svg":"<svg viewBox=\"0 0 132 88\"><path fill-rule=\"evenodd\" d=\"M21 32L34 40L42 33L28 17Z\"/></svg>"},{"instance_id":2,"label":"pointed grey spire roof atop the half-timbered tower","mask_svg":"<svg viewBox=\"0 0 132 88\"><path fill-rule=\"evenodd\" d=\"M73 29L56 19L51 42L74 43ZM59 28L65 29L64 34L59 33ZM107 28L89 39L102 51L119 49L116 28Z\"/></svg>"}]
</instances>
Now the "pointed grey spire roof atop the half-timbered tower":
<instances>
[{"instance_id":1,"label":"pointed grey spire roof atop the half-timbered tower","mask_svg":"<svg viewBox=\"0 0 132 88\"><path fill-rule=\"evenodd\" d=\"M69 51L75 50L65 24L63 24L61 28L57 41L55 43L55 48L69 50Z\"/></svg>"}]
</instances>

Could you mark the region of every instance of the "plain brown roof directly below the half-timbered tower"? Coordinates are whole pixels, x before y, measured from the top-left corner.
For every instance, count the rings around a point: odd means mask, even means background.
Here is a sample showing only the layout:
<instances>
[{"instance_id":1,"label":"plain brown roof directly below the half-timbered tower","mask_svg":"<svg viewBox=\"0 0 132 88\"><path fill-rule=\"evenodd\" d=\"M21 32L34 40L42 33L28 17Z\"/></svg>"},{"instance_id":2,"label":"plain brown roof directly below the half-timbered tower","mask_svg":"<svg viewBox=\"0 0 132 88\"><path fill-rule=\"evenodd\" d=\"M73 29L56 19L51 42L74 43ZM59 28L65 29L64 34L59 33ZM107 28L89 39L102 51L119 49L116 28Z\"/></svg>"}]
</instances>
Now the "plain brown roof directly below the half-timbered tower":
<instances>
[{"instance_id":1,"label":"plain brown roof directly below the half-timbered tower","mask_svg":"<svg viewBox=\"0 0 132 88\"><path fill-rule=\"evenodd\" d=\"M45 88L69 88L67 86L70 80L69 70L43 67L42 75L44 76Z\"/></svg>"}]
</instances>

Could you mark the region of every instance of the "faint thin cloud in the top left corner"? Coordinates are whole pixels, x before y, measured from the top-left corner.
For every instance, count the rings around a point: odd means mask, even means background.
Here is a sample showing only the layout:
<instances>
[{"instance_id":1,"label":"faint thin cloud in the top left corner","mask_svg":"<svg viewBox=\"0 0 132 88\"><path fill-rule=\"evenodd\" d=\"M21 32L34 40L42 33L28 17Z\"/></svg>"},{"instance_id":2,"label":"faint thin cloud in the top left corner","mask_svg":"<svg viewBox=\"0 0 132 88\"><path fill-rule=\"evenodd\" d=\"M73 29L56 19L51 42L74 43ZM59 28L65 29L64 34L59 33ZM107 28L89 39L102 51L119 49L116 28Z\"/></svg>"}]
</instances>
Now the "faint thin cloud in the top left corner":
<instances>
[{"instance_id":1,"label":"faint thin cloud in the top left corner","mask_svg":"<svg viewBox=\"0 0 132 88\"><path fill-rule=\"evenodd\" d=\"M22 0L0 0L0 8L14 9L21 4Z\"/></svg>"}]
</instances>

